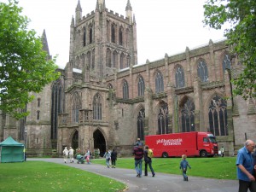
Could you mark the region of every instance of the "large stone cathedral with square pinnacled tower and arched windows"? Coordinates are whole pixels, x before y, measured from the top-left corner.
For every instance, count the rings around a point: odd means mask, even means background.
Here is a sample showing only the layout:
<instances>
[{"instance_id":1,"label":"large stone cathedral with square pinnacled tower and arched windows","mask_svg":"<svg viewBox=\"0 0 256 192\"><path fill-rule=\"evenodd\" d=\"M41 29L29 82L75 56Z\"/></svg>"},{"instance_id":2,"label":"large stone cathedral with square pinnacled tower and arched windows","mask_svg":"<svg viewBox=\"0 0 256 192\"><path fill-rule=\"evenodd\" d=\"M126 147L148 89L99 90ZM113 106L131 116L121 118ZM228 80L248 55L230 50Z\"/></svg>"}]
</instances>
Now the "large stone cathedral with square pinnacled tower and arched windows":
<instances>
[{"instance_id":1,"label":"large stone cathedral with square pinnacled tower and arched windows","mask_svg":"<svg viewBox=\"0 0 256 192\"><path fill-rule=\"evenodd\" d=\"M115 148L125 156L137 137L210 131L233 155L256 138L256 101L232 94L231 79L243 67L225 42L209 40L138 65L137 22L126 1L125 16L108 10L105 0L83 16L78 1L61 77L34 94L25 119L1 114L0 142L11 136L34 156L62 154L66 146L82 153ZM42 40L49 54L45 32Z\"/></svg>"}]
</instances>

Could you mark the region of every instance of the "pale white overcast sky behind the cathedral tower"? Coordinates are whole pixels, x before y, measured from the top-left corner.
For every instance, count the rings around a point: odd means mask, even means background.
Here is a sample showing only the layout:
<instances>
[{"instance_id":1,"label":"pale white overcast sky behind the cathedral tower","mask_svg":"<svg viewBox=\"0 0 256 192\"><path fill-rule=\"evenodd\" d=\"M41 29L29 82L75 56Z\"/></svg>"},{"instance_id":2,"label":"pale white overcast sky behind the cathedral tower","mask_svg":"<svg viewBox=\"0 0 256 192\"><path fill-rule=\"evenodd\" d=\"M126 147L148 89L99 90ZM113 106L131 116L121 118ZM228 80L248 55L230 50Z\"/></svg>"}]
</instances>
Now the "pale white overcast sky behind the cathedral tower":
<instances>
[{"instance_id":1,"label":"pale white overcast sky behind the cathedral tower","mask_svg":"<svg viewBox=\"0 0 256 192\"><path fill-rule=\"evenodd\" d=\"M7 2L7 0L0 0ZM56 64L64 68L69 60L70 24L79 0L20 0L29 29L42 36L44 29L49 53L58 55ZM130 0L137 22L138 64L157 61L165 55L184 52L224 39L224 30L204 27L206 0ZM127 0L105 0L106 7L125 16ZM96 9L96 0L80 0L83 16Z\"/></svg>"}]
</instances>

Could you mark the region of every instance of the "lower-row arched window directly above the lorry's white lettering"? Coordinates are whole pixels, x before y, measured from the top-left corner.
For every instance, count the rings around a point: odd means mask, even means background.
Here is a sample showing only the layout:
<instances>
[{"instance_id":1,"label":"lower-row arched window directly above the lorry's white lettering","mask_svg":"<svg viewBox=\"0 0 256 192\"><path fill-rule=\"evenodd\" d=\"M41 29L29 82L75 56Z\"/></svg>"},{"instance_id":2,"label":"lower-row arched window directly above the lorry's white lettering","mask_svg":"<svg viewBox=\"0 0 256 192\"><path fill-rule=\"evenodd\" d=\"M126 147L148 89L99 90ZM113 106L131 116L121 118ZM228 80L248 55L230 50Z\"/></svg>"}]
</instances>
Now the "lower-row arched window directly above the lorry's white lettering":
<instances>
[{"instance_id":1,"label":"lower-row arched window directly above the lorry's white lettering","mask_svg":"<svg viewBox=\"0 0 256 192\"><path fill-rule=\"evenodd\" d=\"M158 113L158 134L162 135L162 134L166 134L169 133L169 129L168 129L168 123L169 123L169 119L168 119L168 106L166 103L162 104L160 109L159 109L159 113Z\"/></svg>"}]
</instances>

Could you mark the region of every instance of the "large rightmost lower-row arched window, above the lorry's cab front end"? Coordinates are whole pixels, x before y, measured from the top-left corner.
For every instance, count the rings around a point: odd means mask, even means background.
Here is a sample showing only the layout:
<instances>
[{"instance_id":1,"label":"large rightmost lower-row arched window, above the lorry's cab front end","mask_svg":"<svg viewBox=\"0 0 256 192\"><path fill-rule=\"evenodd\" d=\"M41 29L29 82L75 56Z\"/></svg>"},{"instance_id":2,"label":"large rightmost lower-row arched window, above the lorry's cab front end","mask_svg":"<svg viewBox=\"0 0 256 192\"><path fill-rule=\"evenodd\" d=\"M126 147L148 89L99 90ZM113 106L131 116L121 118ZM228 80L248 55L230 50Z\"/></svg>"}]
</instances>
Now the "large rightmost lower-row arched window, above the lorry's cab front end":
<instances>
[{"instance_id":1,"label":"large rightmost lower-row arched window, above the lorry's cab front end","mask_svg":"<svg viewBox=\"0 0 256 192\"><path fill-rule=\"evenodd\" d=\"M210 131L215 136L228 136L227 103L219 96L212 98L209 106Z\"/></svg>"}]
</instances>

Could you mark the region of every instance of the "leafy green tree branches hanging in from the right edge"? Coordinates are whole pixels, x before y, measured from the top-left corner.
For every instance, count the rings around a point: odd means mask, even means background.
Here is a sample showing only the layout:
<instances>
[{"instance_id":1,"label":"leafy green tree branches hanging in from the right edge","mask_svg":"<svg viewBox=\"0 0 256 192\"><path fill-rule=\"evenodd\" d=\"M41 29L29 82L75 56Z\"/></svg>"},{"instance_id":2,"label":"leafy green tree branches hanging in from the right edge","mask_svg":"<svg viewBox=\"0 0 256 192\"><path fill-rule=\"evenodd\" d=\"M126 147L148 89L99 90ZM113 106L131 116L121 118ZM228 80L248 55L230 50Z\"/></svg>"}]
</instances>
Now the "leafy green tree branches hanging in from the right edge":
<instances>
[{"instance_id":1,"label":"leafy green tree branches hanging in from the right edge","mask_svg":"<svg viewBox=\"0 0 256 192\"><path fill-rule=\"evenodd\" d=\"M214 29L228 23L224 36L232 55L237 56L244 70L236 78L234 94L256 97L256 1L207 0L203 22Z\"/></svg>"}]
</instances>

